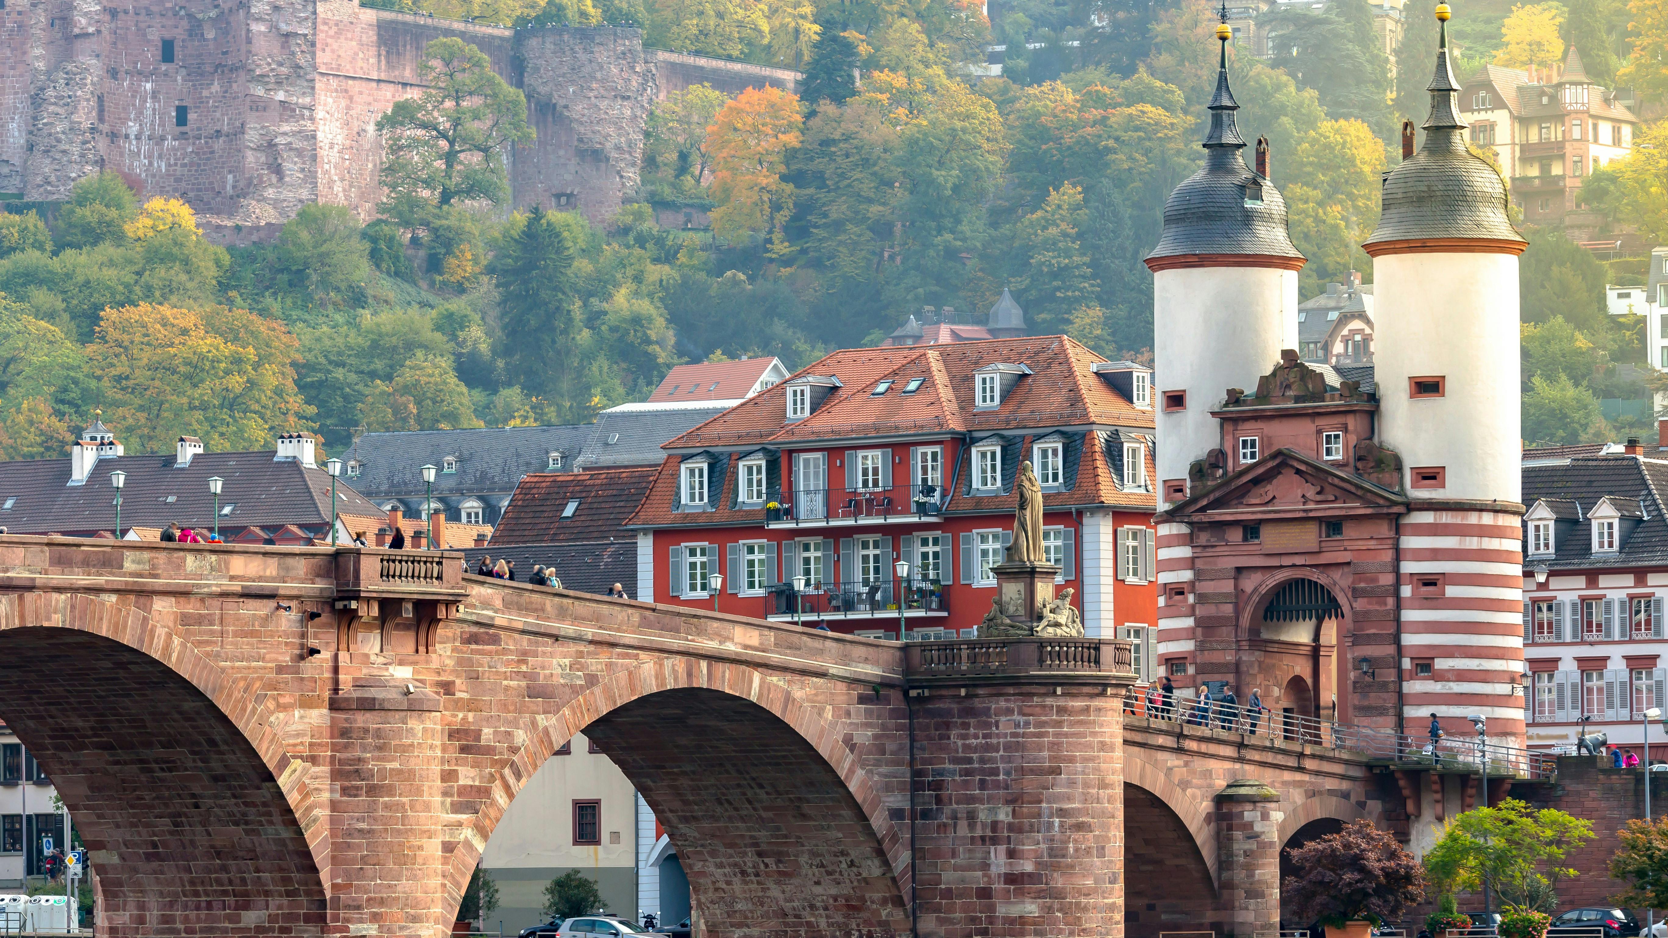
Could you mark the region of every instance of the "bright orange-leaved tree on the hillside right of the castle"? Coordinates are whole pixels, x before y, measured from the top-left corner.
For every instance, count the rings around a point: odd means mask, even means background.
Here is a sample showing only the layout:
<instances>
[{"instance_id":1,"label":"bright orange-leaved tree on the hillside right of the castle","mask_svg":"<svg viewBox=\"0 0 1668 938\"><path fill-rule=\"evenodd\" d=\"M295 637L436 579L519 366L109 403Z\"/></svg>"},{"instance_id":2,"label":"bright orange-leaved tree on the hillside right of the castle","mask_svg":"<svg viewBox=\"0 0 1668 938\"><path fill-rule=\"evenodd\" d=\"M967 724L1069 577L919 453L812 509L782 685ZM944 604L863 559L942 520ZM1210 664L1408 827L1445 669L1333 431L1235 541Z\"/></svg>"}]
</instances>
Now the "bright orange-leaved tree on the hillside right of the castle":
<instances>
[{"instance_id":1,"label":"bright orange-leaved tree on the hillside right of the castle","mask_svg":"<svg viewBox=\"0 0 1668 938\"><path fill-rule=\"evenodd\" d=\"M712 234L731 240L757 237L769 257L792 250L782 225L794 212L794 185L782 172L804 122L799 98L774 87L747 88L719 110L707 129L712 199L719 202Z\"/></svg>"}]
</instances>

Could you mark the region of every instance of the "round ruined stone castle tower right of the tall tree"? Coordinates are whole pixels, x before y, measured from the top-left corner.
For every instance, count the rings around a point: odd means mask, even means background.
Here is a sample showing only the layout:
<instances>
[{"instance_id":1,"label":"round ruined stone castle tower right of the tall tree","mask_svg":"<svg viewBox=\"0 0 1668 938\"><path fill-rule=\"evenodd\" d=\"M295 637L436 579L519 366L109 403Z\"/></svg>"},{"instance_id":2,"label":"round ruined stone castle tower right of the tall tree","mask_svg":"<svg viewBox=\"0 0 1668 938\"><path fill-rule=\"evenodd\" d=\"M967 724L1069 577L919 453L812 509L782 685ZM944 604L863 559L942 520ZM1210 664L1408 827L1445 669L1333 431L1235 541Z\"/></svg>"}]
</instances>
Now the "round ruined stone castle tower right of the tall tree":
<instances>
[{"instance_id":1,"label":"round ruined stone castle tower right of the tall tree","mask_svg":"<svg viewBox=\"0 0 1668 938\"><path fill-rule=\"evenodd\" d=\"M522 30L522 90L539 139L515 147L515 205L579 210L594 222L619 212L637 187L642 130L657 77L642 33L619 27Z\"/></svg>"}]
</instances>

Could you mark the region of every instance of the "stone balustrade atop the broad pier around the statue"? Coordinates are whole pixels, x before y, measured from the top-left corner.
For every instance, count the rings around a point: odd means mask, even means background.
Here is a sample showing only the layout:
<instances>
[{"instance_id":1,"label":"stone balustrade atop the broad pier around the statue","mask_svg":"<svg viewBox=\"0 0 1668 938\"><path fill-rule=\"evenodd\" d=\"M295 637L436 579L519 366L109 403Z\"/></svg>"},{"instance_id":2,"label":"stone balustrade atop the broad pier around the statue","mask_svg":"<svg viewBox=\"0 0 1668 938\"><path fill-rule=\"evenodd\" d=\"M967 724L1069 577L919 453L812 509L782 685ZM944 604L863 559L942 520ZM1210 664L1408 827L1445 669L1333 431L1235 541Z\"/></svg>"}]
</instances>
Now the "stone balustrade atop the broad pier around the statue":
<instances>
[{"instance_id":1,"label":"stone balustrade atop the broad pier around the statue","mask_svg":"<svg viewBox=\"0 0 1668 938\"><path fill-rule=\"evenodd\" d=\"M954 678L1134 681L1134 644L1109 638L1007 638L904 644L909 681Z\"/></svg>"}]
</instances>

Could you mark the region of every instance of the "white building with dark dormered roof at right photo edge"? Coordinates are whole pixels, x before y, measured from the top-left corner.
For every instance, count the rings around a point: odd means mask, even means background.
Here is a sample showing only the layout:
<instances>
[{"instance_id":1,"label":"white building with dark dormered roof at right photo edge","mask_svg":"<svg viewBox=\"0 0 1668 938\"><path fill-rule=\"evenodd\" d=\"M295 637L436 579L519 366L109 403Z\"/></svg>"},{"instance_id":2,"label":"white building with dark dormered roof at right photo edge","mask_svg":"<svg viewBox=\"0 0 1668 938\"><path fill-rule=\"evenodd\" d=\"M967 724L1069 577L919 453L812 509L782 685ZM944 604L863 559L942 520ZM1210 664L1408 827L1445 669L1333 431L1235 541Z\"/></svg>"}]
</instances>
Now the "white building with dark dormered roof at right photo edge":
<instances>
[{"instance_id":1,"label":"white building with dark dormered roof at right photo edge","mask_svg":"<svg viewBox=\"0 0 1668 938\"><path fill-rule=\"evenodd\" d=\"M1665 708L1668 459L1638 444L1523 452L1523 663L1528 743L1603 733L1643 758Z\"/></svg>"}]
</instances>

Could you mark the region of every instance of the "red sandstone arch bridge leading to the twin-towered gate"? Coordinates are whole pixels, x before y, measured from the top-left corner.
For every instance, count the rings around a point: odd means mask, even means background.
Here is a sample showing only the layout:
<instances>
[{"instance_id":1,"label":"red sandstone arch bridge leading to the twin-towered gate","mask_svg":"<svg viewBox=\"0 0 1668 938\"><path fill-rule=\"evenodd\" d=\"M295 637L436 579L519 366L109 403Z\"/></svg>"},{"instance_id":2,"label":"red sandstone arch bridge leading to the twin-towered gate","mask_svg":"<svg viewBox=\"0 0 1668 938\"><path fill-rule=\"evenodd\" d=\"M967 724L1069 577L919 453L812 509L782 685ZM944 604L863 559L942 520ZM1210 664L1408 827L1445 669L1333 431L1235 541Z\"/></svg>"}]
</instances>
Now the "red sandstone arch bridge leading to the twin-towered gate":
<instances>
[{"instance_id":1,"label":"red sandstone arch bridge leading to the twin-towered gate","mask_svg":"<svg viewBox=\"0 0 1668 938\"><path fill-rule=\"evenodd\" d=\"M447 935L577 731L712 936L1248 935L1278 928L1283 843L1396 823L1366 763L1126 726L1129 671L1113 639L899 646L455 554L0 537L0 718L110 936Z\"/></svg>"}]
</instances>

